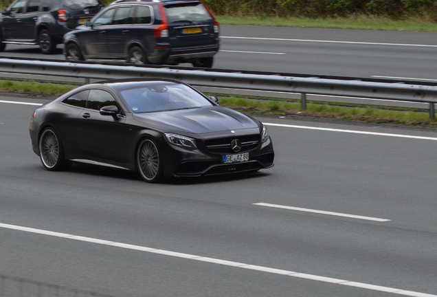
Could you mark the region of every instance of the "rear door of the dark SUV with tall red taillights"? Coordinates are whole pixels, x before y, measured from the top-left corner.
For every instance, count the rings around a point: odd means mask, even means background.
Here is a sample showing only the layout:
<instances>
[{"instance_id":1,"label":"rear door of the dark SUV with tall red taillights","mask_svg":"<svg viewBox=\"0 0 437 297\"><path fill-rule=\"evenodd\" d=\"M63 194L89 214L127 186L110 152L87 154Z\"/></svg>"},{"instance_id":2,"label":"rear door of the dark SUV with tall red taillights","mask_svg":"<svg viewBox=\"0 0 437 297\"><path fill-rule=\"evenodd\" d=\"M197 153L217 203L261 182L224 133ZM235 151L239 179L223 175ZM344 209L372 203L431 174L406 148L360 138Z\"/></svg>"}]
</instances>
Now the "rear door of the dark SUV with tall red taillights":
<instances>
[{"instance_id":1,"label":"rear door of the dark SUV with tall red taillights","mask_svg":"<svg viewBox=\"0 0 437 297\"><path fill-rule=\"evenodd\" d=\"M125 58L125 48L132 30L131 6L120 6L114 14L112 25L107 26L107 43L112 58Z\"/></svg>"}]
</instances>

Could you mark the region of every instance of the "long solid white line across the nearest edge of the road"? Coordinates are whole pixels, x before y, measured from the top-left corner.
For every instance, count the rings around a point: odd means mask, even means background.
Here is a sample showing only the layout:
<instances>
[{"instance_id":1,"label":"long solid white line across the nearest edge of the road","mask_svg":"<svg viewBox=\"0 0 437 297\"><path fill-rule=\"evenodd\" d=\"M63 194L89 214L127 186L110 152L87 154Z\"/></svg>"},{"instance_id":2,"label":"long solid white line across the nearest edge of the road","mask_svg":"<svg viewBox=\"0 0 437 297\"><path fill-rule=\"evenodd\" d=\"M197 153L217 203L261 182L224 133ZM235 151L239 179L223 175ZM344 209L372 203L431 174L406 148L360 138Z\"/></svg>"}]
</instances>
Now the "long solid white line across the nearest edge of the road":
<instances>
[{"instance_id":1,"label":"long solid white line across the nearest edge of the road","mask_svg":"<svg viewBox=\"0 0 437 297\"><path fill-rule=\"evenodd\" d=\"M126 248L126 249L129 249L129 250L137 250L137 251L141 251L141 252L150 252L150 253L162 254L162 255L166 255L166 256L175 256L177 258L182 258L182 259L203 261L203 262L208 262L208 263L225 265L225 266L229 266L229 267L237 267L237 268L244 268L244 269L249 269L249 270L257 270L257 271L260 271L260 272L280 274L280 275L284 275L284 276L293 276L293 277L297 277L297 278L306 278L306 279L309 279L309 280L321 281L321 282L324 282L324 283L333 283L333 284L337 284L337 285L349 285L349 286L352 286L352 287L360 287L360 288L363 288L363 289L371 289L371 290L380 291L380 292L390 292L390 293L393 293L393 294L400 294L400 295L404 295L404 296L437 297L437 295L425 294L425 293L413 292L413 291L407 291L407 290L403 290L403 289L394 289L394 288L390 288L390 287L381 287L381 286L378 286L378 285L370 285L370 284L366 284L366 283L357 283L357 282L352 282L352 281L341 280L341 279L338 279L338 278L329 278L329 277L317 276L317 275L313 275L313 274L304 274L304 273L293 272L293 271L289 271L289 270L279 270L279 269L271 268L271 267L264 267L264 266L258 266L258 265L250 265L250 264L245 264L245 263L238 263L238 262L234 262L234 261L226 261L226 260L221 260L221 259L208 258L208 257L197 256L197 255L192 255L192 254L183 254L183 253L179 253L179 252L171 252L171 251L168 251L168 250L158 250L158 249L155 249L155 248L147 248L147 247L140 246L140 245L130 245L130 244L127 244L127 243L118 243L118 242L106 241L106 240L102 240L102 239L93 239L91 237L76 236L76 235L73 235L73 234L59 233L59 232L53 232L53 231L47 231L47 230L41 230L41 229L35 229L35 228L29 228L29 227L23 227L23 226L19 226L19 225L10 225L10 224L5 224L5 223L0 223L0 228L19 230L19 231L36 233L36 234L44 234L44 235L49 235L49 236L60 237L60 238L63 238L63 239L73 239L73 240L77 240L77 241L86 241L86 242L89 242L89 243L109 245L109 246L113 246L113 247L117 247L117 248Z\"/></svg>"}]
</instances>

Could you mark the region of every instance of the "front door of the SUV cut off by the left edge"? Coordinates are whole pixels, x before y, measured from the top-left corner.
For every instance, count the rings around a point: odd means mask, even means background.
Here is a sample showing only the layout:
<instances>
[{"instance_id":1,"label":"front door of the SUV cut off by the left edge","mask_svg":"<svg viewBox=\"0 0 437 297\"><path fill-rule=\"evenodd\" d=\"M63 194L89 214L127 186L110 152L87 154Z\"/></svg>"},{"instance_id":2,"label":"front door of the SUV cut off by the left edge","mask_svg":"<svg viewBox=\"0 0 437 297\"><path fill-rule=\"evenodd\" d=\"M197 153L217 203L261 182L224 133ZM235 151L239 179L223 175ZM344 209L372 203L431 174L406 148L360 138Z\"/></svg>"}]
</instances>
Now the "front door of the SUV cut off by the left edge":
<instances>
[{"instance_id":1,"label":"front door of the SUV cut off by the left edge","mask_svg":"<svg viewBox=\"0 0 437 297\"><path fill-rule=\"evenodd\" d=\"M5 40L24 39L22 18L26 3L27 0L16 0L3 14Z\"/></svg>"}]
</instances>

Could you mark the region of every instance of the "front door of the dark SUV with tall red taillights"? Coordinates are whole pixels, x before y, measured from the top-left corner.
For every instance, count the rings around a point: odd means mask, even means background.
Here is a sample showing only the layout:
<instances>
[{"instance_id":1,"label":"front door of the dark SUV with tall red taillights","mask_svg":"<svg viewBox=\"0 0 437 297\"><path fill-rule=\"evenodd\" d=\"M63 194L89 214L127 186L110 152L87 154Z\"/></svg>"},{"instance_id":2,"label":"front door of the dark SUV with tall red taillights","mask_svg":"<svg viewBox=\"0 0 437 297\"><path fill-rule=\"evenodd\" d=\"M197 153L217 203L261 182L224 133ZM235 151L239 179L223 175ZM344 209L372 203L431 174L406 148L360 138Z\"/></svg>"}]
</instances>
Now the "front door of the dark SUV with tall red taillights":
<instances>
[{"instance_id":1,"label":"front door of the dark SUV with tall red taillights","mask_svg":"<svg viewBox=\"0 0 437 297\"><path fill-rule=\"evenodd\" d=\"M85 47L88 58L109 58L111 56L107 45L108 30L116 8L109 9L93 19L91 30L81 32L80 39Z\"/></svg>"}]
</instances>

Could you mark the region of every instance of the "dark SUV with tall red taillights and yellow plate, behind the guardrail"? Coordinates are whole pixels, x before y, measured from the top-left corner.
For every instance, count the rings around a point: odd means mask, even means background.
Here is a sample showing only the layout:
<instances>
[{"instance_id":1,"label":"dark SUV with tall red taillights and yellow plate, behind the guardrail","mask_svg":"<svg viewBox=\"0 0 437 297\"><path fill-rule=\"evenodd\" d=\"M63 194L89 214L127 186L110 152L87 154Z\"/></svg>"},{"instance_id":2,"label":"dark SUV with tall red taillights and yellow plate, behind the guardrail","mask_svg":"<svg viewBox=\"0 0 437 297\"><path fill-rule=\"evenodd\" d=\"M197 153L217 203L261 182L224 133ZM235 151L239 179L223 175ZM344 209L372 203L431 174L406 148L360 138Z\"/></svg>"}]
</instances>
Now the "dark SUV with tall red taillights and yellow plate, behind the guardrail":
<instances>
[{"instance_id":1,"label":"dark SUV with tall red taillights and yellow plate, behind the guardrail","mask_svg":"<svg viewBox=\"0 0 437 297\"><path fill-rule=\"evenodd\" d=\"M65 34L67 60L212 67L219 51L219 23L200 1L115 2Z\"/></svg>"}]
</instances>

